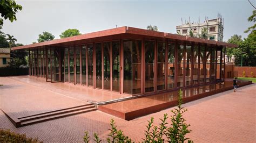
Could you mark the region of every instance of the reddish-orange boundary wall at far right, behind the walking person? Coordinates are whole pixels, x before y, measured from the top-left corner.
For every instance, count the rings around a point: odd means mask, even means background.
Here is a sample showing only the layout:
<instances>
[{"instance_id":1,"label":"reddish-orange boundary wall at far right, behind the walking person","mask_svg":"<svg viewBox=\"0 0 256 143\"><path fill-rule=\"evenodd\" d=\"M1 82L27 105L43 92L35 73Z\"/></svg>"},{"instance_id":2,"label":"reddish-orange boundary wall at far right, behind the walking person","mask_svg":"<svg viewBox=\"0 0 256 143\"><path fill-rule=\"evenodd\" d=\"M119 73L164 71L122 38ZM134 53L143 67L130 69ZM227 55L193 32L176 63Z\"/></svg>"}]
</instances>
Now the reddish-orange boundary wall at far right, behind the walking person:
<instances>
[{"instance_id":1,"label":"reddish-orange boundary wall at far right, behind the walking person","mask_svg":"<svg viewBox=\"0 0 256 143\"><path fill-rule=\"evenodd\" d=\"M256 67L234 67L235 77L244 77L242 72L245 71L245 77L256 77ZM251 72L253 75L251 75Z\"/></svg>"}]
</instances>

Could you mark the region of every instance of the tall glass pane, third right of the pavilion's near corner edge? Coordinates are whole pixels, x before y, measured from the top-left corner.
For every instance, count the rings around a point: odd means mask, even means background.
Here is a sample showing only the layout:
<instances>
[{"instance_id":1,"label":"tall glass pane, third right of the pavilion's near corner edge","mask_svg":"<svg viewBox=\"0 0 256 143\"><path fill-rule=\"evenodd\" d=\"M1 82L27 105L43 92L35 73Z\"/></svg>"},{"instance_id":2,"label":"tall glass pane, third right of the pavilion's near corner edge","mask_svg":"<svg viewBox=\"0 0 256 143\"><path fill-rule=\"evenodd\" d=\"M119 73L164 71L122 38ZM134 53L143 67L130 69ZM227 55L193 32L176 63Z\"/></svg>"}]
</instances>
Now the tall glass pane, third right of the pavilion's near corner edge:
<instances>
[{"instance_id":1,"label":"tall glass pane, third right of the pavilion's near corner edge","mask_svg":"<svg viewBox=\"0 0 256 143\"><path fill-rule=\"evenodd\" d=\"M165 43L157 44L157 90L165 89Z\"/></svg>"}]
</instances>

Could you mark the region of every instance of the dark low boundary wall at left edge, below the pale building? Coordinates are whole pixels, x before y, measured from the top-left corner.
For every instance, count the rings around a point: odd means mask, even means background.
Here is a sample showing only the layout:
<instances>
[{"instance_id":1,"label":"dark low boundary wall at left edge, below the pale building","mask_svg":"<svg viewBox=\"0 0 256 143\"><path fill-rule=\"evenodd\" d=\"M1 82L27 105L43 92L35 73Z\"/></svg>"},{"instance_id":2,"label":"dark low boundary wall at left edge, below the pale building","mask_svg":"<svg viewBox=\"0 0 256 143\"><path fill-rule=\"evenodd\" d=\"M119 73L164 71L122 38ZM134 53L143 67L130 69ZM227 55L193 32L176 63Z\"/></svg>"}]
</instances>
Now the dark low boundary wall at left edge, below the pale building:
<instances>
[{"instance_id":1,"label":"dark low boundary wall at left edge, below the pale building","mask_svg":"<svg viewBox=\"0 0 256 143\"><path fill-rule=\"evenodd\" d=\"M29 75L29 68L0 68L0 76Z\"/></svg>"}]
</instances>

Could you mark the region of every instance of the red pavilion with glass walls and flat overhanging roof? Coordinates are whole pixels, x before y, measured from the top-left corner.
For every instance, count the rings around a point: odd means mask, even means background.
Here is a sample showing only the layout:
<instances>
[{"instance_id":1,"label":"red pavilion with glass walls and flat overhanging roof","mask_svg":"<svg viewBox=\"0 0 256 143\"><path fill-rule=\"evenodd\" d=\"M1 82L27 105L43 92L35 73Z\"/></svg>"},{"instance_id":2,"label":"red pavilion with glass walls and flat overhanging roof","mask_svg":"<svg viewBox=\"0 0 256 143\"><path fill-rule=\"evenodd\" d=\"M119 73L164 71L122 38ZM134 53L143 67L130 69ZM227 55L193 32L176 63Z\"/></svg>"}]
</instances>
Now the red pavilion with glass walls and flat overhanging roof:
<instances>
[{"instance_id":1,"label":"red pavilion with glass walls and flat overhanging roof","mask_svg":"<svg viewBox=\"0 0 256 143\"><path fill-rule=\"evenodd\" d=\"M12 50L29 51L30 76L133 96L224 81L226 46L125 26Z\"/></svg>"}]
</instances>

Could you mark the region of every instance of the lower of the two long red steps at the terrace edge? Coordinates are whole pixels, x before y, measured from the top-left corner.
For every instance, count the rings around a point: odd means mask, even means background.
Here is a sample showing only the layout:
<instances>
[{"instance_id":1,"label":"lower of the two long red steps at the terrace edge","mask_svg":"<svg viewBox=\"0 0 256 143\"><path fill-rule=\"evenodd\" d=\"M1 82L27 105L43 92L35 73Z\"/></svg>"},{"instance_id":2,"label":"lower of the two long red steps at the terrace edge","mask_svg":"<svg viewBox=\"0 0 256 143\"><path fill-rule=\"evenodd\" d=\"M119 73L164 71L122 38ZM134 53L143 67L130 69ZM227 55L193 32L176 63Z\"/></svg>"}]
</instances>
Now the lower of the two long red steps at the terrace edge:
<instances>
[{"instance_id":1,"label":"lower of the two long red steps at the terrace edge","mask_svg":"<svg viewBox=\"0 0 256 143\"><path fill-rule=\"evenodd\" d=\"M43 121L48 121L48 120L73 116L73 115L77 115L77 114L80 114L80 113L86 113L86 112L91 112L91 111L96 111L96 110L97 110L97 108L93 107L93 108L89 108L89 109L83 109L83 110L78 110L78 111L73 111L73 112L66 112L66 113L63 113L63 114L58 114L58 115L53 115L53 116L46 116L46 117L43 117L43 118L37 118L37 119L33 119L33 120L21 121L20 126L26 126L26 125L31 125L31 124L35 124L35 123L41 123Z\"/></svg>"}]
</instances>

